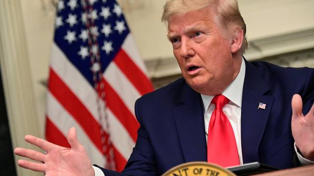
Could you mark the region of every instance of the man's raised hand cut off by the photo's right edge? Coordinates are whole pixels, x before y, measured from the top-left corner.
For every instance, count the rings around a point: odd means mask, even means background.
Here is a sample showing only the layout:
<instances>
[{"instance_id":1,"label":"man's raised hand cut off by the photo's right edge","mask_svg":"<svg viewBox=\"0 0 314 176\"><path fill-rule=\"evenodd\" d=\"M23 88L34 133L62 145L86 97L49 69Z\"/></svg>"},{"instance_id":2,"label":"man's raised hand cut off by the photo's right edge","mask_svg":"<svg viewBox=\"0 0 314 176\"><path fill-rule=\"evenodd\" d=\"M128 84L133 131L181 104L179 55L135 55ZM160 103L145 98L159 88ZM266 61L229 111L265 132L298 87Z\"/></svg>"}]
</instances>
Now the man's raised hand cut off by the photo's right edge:
<instances>
[{"instance_id":1,"label":"man's raised hand cut off by the photo's right edge","mask_svg":"<svg viewBox=\"0 0 314 176\"><path fill-rule=\"evenodd\" d=\"M303 115L300 95L292 98L291 129L296 146L305 158L314 160L314 105Z\"/></svg>"}]
</instances>

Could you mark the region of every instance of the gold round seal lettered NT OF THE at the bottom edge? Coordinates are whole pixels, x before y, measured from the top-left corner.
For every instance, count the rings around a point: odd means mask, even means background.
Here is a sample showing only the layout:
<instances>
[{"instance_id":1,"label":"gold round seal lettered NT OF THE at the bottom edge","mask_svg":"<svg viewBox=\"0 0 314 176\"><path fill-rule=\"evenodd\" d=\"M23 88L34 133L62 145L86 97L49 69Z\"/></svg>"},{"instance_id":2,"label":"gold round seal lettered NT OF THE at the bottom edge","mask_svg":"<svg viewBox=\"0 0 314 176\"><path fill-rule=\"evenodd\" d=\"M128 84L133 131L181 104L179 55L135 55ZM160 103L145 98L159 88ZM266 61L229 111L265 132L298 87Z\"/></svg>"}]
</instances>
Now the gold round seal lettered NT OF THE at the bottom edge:
<instances>
[{"instance_id":1,"label":"gold round seal lettered NT OF THE at the bottom edge","mask_svg":"<svg viewBox=\"0 0 314 176\"><path fill-rule=\"evenodd\" d=\"M215 164L188 162L171 168L162 176L235 176L235 174Z\"/></svg>"}]
</instances>

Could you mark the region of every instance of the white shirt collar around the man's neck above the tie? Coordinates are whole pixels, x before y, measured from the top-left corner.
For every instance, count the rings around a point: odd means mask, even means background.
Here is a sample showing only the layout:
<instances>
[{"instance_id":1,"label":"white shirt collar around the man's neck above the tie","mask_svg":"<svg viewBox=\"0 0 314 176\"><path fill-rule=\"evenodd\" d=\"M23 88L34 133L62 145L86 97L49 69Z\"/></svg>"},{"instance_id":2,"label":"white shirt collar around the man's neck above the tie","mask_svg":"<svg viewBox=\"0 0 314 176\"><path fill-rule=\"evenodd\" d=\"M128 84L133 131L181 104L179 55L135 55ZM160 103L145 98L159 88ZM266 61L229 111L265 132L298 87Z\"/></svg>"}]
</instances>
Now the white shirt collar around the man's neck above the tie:
<instances>
[{"instance_id":1,"label":"white shirt collar around the man's neck above the tie","mask_svg":"<svg viewBox=\"0 0 314 176\"><path fill-rule=\"evenodd\" d=\"M245 62L242 57L241 68L235 80L222 92L222 94L227 97L231 102L235 103L238 107L242 106L242 91L245 76ZM204 111L209 107L209 104L214 96L201 94Z\"/></svg>"}]
</instances>

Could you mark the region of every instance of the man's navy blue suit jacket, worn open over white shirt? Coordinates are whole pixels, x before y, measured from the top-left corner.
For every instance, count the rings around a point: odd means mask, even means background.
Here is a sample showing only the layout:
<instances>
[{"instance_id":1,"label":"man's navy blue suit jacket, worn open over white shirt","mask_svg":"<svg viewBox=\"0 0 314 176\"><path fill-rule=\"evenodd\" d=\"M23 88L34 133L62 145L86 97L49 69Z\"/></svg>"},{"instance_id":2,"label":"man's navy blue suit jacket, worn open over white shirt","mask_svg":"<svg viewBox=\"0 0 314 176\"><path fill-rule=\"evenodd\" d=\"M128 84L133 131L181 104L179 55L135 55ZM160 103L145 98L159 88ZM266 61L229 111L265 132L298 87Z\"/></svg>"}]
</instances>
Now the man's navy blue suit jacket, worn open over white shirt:
<instances>
[{"instance_id":1,"label":"man's navy blue suit jacket, worn open over white shirt","mask_svg":"<svg viewBox=\"0 0 314 176\"><path fill-rule=\"evenodd\" d=\"M283 68L265 62L246 64L242 109L243 162L259 161L277 168L293 167L291 98L303 98L303 113L314 103L314 69ZM258 109L259 103L266 109ZM120 174L156 176L189 161L206 161L201 95L183 78L139 98L135 114L140 128L135 148ZM221 144L223 145L223 144Z\"/></svg>"}]
</instances>

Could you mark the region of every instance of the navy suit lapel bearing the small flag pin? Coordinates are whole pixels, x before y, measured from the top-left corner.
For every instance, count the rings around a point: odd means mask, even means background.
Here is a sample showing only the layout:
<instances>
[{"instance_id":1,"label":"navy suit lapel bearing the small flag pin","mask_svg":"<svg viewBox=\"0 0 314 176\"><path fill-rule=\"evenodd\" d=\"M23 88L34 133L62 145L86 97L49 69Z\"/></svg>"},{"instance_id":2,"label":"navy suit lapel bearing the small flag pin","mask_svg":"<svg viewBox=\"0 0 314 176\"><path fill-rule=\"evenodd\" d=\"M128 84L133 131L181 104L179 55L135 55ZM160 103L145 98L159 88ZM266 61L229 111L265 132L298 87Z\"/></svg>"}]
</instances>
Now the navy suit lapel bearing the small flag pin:
<instances>
[{"instance_id":1,"label":"navy suit lapel bearing the small flag pin","mask_svg":"<svg viewBox=\"0 0 314 176\"><path fill-rule=\"evenodd\" d=\"M264 81L264 73L252 64L245 62L246 71L243 85L241 108L241 144L243 163L259 161L259 145L266 127L273 98L264 95L269 90ZM259 103L266 108L258 109Z\"/></svg>"}]
</instances>

